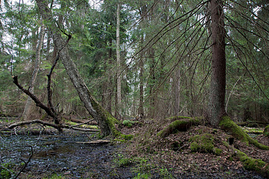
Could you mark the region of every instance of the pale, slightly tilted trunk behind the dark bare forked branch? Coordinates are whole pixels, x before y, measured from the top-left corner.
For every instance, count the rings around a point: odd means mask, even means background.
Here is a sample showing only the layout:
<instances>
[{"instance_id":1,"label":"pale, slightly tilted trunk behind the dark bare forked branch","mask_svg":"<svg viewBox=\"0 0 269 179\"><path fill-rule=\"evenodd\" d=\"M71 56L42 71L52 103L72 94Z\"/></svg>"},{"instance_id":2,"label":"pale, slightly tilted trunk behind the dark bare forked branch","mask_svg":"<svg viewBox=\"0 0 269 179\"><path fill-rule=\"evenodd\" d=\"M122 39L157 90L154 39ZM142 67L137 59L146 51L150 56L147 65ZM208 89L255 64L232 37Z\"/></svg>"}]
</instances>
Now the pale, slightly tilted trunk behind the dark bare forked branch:
<instances>
[{"instance_id":1,"label":"pale, slightly tilted trunk behind the dark bare forked branch","mask_svg":"<svg viewBox=\"0 0 269 179\"><path fill-rule=\"evenodd\" d=\"M34 85L35 85L35 81L36 81L36 76L37 73L39 71L39 66L40 66L40 51L42 49L43 46L43 41L44 41L44 33L45 33L45 27L44 25L41 26L40 28L40 33L39 33L39 41L37 44L37 48L36 48L36 44L33 44L33 46L35 46L33 49L36 49L35 51L35 65L34 65L34 71L30 80L30 84L29 84L29 92L30 93L34 93ZM27 102L24 108L24 113L23 113L23 120L27 121L30 115L30 109L31 109L31 105L32 105L33 100L28 97L27 98Z\"/></svg>"}]
</instances>

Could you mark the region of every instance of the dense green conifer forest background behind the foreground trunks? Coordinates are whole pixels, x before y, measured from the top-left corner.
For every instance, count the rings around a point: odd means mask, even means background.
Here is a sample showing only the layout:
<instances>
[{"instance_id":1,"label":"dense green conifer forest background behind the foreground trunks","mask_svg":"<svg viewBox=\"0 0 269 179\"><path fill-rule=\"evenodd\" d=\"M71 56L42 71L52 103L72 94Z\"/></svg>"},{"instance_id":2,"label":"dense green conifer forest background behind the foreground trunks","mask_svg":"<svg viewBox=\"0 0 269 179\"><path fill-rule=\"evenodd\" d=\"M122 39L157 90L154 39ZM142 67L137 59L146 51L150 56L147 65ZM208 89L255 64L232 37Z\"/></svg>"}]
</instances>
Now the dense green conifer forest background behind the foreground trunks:
<instances>
[{"instance_id":1,"label":"dense green conifer forest background behind the foreground trunks","mask_svg":"<svg viewBox=\"0 0 269 179\"><path fill-rule=\"evenodd\" d=\"M206 113L212 57L209 1L58 0L48 4L63 37L72 35L67 46L82 78L112 115L120 119L143 113L160 119ZM224 4L225 110L235 121L268 122L268 5L266 0ZM28 120L45 114L32 103L30 115L23 116L28 96L11 78L17 75L25 88L34 86L34 94L47 103L47 74L57 50L49 24L38 11L34 1L1 1L2 115ZM56 110L88 116L63 64L57 63L51 78Z\"/></svg>"}]
</instances>

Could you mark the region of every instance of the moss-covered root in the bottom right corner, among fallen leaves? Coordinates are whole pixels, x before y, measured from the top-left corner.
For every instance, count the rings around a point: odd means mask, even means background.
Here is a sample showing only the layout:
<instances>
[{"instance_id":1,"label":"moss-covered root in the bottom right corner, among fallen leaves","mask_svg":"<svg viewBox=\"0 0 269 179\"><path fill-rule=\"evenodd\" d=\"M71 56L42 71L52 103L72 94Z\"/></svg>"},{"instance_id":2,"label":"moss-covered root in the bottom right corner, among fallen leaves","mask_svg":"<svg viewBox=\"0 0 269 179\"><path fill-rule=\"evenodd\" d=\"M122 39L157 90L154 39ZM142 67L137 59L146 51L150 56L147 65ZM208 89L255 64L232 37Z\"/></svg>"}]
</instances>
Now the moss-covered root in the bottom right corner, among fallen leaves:
<instances>
[{"instance_id":1,"label":"moss-covered root in the bottom right corner, among fallen leaves","mask_svg":"<svg viewBox=\"0 0 269 179\"><path fill-rule=\"evenodd\" d=\"M238 156L240 161L243 163L243 167L246 170L253 170L257 173L262 174L265 177L269 177L269 165L260 159L253 159L247 156L244 152L235 149L235 154Z\"/></svg>"}]
</instances>

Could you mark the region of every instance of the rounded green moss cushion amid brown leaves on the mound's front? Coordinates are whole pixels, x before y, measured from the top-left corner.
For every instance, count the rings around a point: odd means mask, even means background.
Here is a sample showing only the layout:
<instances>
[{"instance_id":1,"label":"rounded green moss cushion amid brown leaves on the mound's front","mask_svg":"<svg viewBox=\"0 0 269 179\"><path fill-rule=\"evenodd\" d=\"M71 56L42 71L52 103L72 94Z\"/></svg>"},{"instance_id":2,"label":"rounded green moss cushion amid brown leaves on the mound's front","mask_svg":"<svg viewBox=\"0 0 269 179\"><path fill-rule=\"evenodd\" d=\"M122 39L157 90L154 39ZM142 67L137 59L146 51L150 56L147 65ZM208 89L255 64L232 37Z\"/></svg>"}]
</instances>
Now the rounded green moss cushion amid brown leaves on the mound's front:
<instances>
[{"instance_id":1,"label":"rounded green moss cushion amid brown leaves on the mound's front","mask_svg":"<svg viewBox=\"0 0 269 179\"><path fill-rule=\"evenodd\" d=\"M214 137L210 133L195 135L189 139L191 151L200 153L214 153L219 155L222 150L214 147Z\"/></svg>"}]
</instances>

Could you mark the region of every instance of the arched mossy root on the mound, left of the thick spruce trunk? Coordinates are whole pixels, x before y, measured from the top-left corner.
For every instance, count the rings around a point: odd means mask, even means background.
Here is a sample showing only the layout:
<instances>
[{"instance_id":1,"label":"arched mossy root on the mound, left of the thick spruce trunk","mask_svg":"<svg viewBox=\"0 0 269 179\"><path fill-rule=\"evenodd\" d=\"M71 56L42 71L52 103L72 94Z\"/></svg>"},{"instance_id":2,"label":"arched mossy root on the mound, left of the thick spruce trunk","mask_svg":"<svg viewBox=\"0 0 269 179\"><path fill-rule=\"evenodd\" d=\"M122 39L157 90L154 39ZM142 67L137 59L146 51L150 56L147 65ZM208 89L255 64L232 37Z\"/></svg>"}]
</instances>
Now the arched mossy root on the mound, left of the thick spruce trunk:
<instances>
[{"instance_id":1,"label":"arched mossy root on the mound, left of the thick spruce trunk","mask_svg":"<svg viewBox=\"0 0 269 179\"><path fill-rule=\"evenodd\" d=\"M176 120L164 127L161 131L157 133L157 136L164 138L169 136L171 133L176 133L178 131L187 131L191 126L198 125L199 120L197 118L184 117L180 120Z\"/></svg>"}]
</instances>

